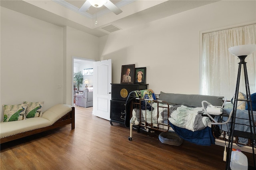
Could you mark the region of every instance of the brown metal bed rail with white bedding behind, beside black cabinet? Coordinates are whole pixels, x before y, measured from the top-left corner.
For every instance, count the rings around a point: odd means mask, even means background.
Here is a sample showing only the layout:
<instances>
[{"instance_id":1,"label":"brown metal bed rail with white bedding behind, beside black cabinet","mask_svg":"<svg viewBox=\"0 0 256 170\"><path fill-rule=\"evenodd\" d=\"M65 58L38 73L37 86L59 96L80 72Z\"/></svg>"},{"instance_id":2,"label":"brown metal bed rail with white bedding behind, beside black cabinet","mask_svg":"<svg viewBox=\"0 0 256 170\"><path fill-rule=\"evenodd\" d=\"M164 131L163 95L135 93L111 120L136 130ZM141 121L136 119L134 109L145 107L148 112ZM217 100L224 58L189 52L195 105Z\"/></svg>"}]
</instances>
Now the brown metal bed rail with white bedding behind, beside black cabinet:
<instances>
[{"instance_id":1,"label":"brown metal bed rail with white bedding behind, beside black cabinet","mask_svg":"<svg viewBox=\"0 0 256 170\"><path fill-rule=\"evenodd\" d=\"M138 132L140 128L144 128L146 131L158 130L167 132L170 128L168 123L169 109L170 106L165 101L136 98L132 101L132 113L130 113L132 118L130 120L130 136L128 139L132 140L134 125L138 127ZM136 123L133 123L132 120L136 120Z\"/></svg>"}]
</instances>

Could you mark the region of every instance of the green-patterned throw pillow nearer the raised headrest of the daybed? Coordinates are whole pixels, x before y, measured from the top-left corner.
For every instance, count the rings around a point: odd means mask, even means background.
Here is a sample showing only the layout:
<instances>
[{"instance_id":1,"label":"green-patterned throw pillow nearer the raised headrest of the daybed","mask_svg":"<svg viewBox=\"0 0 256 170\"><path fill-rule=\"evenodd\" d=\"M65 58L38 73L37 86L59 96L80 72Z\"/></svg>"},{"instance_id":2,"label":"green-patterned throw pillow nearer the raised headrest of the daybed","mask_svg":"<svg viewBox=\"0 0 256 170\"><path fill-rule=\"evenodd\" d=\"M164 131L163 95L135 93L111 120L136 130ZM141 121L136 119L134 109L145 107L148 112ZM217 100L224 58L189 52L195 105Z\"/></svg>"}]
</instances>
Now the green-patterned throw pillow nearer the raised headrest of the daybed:
<instances>
[{"instance_id":1,"label":"green-patterned throw pillow nearer the raised headrest of the daybed","mask_svg":"<svg viewBox=\"0 0 256 170\"><path fill-rule=\"evenodd\" d=\"M27 103L28 107L26 110L26 118L30 117L42 117L42 107L44 105L44 102L27 102L24 101L23 103Z\"/></svg>"}]
</instances>

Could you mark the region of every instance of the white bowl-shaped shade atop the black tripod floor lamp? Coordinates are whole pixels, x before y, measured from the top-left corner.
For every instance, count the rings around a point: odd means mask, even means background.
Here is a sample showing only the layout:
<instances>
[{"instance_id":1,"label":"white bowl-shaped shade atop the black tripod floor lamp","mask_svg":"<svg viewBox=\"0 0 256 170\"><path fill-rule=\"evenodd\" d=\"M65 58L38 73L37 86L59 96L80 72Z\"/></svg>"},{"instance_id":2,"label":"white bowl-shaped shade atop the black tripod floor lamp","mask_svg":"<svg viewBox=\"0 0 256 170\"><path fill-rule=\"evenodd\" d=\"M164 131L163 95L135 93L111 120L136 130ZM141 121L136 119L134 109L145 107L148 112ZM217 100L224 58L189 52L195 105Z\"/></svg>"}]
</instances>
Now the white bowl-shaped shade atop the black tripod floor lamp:
<instances>
[{"instance_id":1,"label":"white bowl-shaped shade atop the black tripod floor lamp","mask_svg":"<svg viewBox=\"0 0 256 170\"><path fill-rule=\"evenodd\" d=\"M228 51L235 56L250 55L256 51L256 44L238 45L228 48Z\"/></svg>"}]
</instances>

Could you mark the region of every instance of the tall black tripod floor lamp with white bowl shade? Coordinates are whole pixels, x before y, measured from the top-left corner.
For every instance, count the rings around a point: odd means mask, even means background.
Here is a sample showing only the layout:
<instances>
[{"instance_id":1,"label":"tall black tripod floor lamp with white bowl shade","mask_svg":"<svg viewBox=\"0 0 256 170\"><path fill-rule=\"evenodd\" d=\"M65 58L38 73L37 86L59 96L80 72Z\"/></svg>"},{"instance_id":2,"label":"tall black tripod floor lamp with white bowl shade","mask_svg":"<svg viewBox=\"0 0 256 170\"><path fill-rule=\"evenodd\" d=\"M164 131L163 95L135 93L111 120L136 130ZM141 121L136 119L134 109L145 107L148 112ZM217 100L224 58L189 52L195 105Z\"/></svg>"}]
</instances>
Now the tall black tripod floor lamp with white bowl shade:
<instances>
[{"instance_id":1,"label":"tall black tripod floor lamp with white bowl shade","mask_svg":"<svg viewBox=\"0 0 256 170\"><path fill-rule=\"evenodd\" d=\"M232 152L232 144L233 144L233 137L234 136L240 136L245 138L251 139L252 144L252 154L254 159L254 168L256 168L255 164L255 155L254 155L254 143L253 141L256 139L255 135L255 125L254 125L254 117L253 117L253 111L252 111L252 100L250 95L250 87L249 87L249 81L248 81L248 74L247 74L247 68L246 68L246 62L245 58L247 55L250 55L254 51L256 51L256 44L248 44L248 45L238 45L234 47L230 47L228 51L232 54L237 56L240 59L240 62L238 63L238 75L236 80L236 92L234 95L234 106L233 106L233 115L232 115L232 121L230 126L230 137L228 141L228 159L226 162L226 169L230 169L230 160L231 160L231 152ZM246 99L238 99L238 92L239 92L239 83L240 83L240 75L241 75L241 67L244 67L244 81L245 81L245 88L246 88ZM239 130L234 130L235 128L235 120L236 120L236 109L237 109L237 103L238 101L245 101L248 106L248 116L249 116L249 123L250 123L250 132L242 132Z\"/></svg>"}]
</instances>

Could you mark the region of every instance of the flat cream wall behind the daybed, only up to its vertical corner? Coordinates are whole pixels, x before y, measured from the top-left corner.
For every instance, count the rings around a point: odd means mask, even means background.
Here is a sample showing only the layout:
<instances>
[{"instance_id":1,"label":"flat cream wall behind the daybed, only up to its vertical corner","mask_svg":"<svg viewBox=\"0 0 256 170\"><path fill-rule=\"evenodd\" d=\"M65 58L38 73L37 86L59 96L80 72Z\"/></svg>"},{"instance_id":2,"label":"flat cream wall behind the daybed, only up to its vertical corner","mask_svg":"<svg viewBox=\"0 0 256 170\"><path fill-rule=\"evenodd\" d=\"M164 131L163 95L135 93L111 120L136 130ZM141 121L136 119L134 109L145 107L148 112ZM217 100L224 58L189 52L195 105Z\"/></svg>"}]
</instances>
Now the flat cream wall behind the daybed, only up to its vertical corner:
<instances>
[{"instance_id":1,"label":"flat cream wall behind the daybed, only up to its vertical corner","mask_svg":"<svg viewBox=\"0 0 256 170\"><path fill-rule=\"evenodd\" d=\"M61 27L1 7L2 105L44 101L43 111L62 103Z\"/></svg>"}]
</instances>

